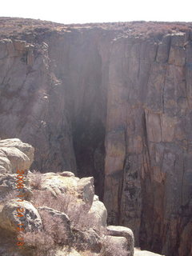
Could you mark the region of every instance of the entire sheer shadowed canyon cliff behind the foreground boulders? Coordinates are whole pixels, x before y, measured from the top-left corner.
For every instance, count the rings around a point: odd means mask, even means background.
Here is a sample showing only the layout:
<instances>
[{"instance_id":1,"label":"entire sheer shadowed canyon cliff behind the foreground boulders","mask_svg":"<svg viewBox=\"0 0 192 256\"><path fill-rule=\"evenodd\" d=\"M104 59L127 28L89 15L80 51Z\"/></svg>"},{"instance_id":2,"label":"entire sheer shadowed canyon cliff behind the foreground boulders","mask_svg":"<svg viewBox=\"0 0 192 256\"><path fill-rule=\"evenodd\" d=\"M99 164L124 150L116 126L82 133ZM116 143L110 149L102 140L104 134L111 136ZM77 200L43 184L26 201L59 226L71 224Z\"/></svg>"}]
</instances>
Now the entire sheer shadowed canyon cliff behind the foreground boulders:
<instances>
[{"instance_id":1,"label":"entire sheer shadowed canyon cliff behind the foreground boulders","mask_svg":"<svg viewBox=\"0 0 192 256\"><path fill-rule=\"evenodd\" d=\"M108 222L137 245L189 255L190 24L15 22L2 19L1 138L34 146L42 172L93 175Z\"/></svg>"}]
</instances>

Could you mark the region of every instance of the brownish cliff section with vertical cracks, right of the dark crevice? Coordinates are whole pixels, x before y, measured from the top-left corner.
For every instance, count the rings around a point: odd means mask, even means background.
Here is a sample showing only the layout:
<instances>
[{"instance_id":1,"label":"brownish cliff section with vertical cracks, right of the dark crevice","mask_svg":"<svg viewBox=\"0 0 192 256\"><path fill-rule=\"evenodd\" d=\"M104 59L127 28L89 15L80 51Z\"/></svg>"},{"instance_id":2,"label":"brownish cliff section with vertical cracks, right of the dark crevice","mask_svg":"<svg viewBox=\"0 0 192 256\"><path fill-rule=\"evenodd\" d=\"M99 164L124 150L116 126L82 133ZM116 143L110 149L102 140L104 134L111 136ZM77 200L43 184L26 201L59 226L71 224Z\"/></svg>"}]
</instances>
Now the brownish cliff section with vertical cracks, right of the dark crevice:
<instances>
[{"instance_id":1,"label":"brownish cliff section with vertical cracks, right of the dark crevice","mask_svg":"<svg viewBox=\"0 0 192 256\"><path fill-rule=\"evenodd\" d=\"M189 255L191 42L119 39L110 56L104 202L112 223L166 255ZM185 252L183 252L185 251Z\"/></svg>"}]
</instances>

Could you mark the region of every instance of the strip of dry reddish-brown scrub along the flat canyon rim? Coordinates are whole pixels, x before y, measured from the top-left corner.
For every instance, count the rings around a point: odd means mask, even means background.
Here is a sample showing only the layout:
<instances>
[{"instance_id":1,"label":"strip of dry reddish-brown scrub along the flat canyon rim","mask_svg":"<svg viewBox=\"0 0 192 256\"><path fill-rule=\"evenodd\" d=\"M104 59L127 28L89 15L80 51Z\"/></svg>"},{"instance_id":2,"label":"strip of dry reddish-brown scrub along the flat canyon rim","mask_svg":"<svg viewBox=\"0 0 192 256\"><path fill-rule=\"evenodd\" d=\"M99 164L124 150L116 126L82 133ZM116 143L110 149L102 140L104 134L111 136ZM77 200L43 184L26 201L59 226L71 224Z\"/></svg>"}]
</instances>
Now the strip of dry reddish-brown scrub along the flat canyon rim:
<instances>
[{"instance_id":1,"label":"strip of dry reddish-brown scrub along the flat canyon rim","mask_svg":"<svg viewBox=\"0 0 192 256\"><path fill-rule=\"evenodd\" d=\"M192 31L191 22L104 22L86 24L58 24L56 22L46 22L29 18L0 18L0 38L19 38L22 34L50 34L57 31L64 34L68 30L86 28L87 30L95 27L103 30L118 31L119 34L128 34L130 37L142 38L161 38L162 34L175 33L178 31Z\"/></svg>"}]
</instances>

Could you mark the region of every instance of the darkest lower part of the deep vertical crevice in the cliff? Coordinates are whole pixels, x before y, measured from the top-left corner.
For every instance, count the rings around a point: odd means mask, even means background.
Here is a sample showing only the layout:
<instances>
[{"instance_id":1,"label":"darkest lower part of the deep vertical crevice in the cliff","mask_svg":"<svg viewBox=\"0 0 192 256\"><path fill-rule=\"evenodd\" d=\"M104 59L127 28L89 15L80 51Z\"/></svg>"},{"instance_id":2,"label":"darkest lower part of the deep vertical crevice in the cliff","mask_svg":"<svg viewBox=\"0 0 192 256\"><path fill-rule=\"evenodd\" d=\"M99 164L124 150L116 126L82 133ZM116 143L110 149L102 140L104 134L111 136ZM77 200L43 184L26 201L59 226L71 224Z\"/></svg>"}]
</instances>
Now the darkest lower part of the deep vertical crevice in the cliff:
<instances>
[{"instance_id":1,"label":"darkest lower part of the deep vertical crevice in the cliff","mask_svg":"<svg viewBox=\"0 0 192 256\"><path fill-rule=\"evenodd\" d=\"M91 114L91 113L90 113ZM105 127L101 122L90 123L82 115L75 123L73 131L74 154L78 177L94 177L95 193L103 198L104 162L105 162ZM89 119L89 118L88 118Z\"/></svg>"}]
</instances>

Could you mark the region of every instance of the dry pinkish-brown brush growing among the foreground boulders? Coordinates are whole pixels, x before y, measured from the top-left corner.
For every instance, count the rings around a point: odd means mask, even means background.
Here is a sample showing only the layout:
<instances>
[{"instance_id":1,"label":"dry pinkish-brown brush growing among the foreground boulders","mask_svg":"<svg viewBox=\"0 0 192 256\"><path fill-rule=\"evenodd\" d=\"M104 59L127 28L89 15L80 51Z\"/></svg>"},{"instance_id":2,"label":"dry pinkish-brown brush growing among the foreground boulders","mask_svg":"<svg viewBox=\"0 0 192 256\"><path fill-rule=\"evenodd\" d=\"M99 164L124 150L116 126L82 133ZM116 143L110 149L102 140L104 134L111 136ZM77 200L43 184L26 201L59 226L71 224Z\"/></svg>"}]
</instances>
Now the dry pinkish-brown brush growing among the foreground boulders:
<instances>
[{"instance_id":1,"label":"dry pinkish-brown brush growing among the foreground boulders","mask_svg":"<svg viewBox=\"0 0 192 256\"><path fill-rule=\"evenodd\" d=\"M89 213L89 207L77 192L63 190L55 194L51 187L46 189L42 186L42 177L38 171L30 174L30 186L34 188L30 202L42 218L42 230L22 234L25 242L23 250L28 255L53 256L58 248L62 248L63 255L65 251L67 255L67 250L68 253L74 250L84 256L92 256L94 252L101 256L128 256L127 250L114 245L110 238L102 238L104 230L98 226L94 214ZM11 191L6 195L6 200L17 198L17 194L17 191ZM70 222L64 214L54 211L52 215L52 210L43 206L66 214Z\"/></svg>"}]
</instances>

